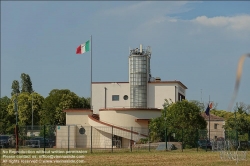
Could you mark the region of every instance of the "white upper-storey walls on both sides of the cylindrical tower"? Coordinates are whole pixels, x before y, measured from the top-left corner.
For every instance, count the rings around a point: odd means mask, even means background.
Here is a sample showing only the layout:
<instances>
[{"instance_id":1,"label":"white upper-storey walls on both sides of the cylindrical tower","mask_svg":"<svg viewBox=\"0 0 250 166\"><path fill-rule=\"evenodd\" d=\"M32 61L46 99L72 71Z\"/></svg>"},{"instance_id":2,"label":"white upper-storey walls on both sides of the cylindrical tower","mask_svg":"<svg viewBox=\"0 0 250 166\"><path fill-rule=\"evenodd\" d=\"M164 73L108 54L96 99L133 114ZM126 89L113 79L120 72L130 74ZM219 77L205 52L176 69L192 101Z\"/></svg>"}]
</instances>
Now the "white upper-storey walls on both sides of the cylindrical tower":
<instances>
[{"instance_id":1,"label":"white upper-storey walls on both sides of the cylindrical tower","mask_svg":"<svg viewBox=\"0 0 250 166\"><path fill-rule=\"evenodd\" d=\"M106 108L130 108L130 85L127 82L118 83L93 83L92 84L92 105L93 113L99 113L99 109L105 107L105 89ZM186 90L178 82L150 82L148 83L147 107L163 108L165 99L178 101L178 93L186 96ZM112 101L112 95L119 95L119 101ZM123 96L128 95L128 100Z\"/></svg>"}]
</instances>

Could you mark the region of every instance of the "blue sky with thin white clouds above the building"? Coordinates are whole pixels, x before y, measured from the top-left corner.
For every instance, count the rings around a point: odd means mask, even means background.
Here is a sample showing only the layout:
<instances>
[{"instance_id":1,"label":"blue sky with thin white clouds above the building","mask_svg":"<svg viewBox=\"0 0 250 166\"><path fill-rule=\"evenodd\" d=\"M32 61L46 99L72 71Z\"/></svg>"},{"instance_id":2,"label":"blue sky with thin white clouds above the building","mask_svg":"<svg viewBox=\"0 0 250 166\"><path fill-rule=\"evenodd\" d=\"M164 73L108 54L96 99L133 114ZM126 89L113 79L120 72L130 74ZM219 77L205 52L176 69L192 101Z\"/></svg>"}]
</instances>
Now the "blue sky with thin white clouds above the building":
<instances>
[{"instance_id":1,"label":"blue sky with thin white clouds above the building","mask_svg":"<svg viewBox=\"0 0 250 166\"><path fill-rule=\"evenodd\" d=\"M29 74L48 96L70 89L90 96L90 53L76 55L93 37L93 81L128 81L129 47L151 46L151 72L188 87L188 100L210 100L226 110L239 57L250 53L250 2L62 1L1 2L1 97ZM237 102L250 104L250 60ZM201 95L202 89L202 95Z\"/></svg>"}]
</instances>

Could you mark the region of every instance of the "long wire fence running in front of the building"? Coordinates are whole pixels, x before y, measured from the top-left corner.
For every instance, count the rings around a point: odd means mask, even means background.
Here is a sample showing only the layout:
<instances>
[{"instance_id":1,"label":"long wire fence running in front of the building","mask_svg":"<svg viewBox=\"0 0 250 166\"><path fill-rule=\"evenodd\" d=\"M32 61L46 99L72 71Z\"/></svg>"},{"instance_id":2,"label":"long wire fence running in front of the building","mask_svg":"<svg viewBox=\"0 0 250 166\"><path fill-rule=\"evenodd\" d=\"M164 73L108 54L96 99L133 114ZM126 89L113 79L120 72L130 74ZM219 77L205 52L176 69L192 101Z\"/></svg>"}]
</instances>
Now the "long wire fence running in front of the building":
<instances>
[{"instance_id":1,"label":"long wire fence running in front of the building","mask_svg":"<svg viewBox=\"0 0 250 166\"><path fill-rule=\"evenodd\" d=\"M250 149L250 131L208 131L187 129L166 129L165 136L155 141L157 134L140 127L92 127L67 126L22 126L18 131L18 147L15 138L9 139L9 148L46 150L53 148L67 151L82 149L88 152L180 150L222 150L238 147ZM162 132L162 133L164 133ZM209 141L210 137L210 141ZM228 142L226 142L228 141ZM166 144L167 142L167 144Z\"/></svg>"}]
</instances>

